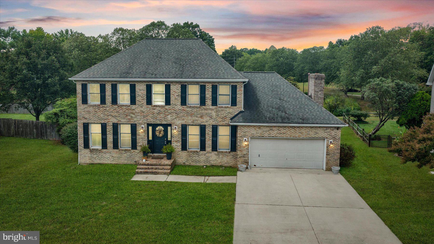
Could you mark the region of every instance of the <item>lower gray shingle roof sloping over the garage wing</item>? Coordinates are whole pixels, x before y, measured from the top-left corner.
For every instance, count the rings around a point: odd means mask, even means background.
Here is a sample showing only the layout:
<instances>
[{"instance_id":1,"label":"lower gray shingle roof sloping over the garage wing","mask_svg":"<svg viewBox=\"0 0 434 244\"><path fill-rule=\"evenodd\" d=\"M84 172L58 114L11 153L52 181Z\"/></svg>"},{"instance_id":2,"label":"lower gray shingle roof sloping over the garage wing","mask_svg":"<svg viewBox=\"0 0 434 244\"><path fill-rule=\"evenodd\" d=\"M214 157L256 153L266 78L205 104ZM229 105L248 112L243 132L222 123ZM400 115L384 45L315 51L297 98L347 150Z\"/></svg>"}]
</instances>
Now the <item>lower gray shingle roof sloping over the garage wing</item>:
<instances>
[{"instance_id":1,"label":"lower gray shingle roof sloping over the garage wing","mask_svg":"<svg viewBox=\"0 0 434 244\"><path fill-rule=\"evenodd\" d=\"M244 111L233 123L345 125L275 72L241 72Z\"/></svg>"}]
</instances>

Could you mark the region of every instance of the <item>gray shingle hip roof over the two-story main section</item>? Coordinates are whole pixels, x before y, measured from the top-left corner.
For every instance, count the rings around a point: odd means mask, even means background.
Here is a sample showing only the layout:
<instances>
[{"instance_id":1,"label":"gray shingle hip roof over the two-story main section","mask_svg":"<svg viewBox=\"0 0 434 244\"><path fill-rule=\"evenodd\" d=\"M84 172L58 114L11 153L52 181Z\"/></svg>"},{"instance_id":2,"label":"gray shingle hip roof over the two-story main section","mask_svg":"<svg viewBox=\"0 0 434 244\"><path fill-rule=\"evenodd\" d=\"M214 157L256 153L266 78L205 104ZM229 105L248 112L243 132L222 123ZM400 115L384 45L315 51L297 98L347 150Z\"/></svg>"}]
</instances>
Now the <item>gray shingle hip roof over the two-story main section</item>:
<instances>
[{"instance_id":1,"label":"gray shingle hip roof over the two-story main section","mask_svg":"<svg viewBox=\"0 0 434 244\"><path fill-rule=\"evenodd\" d=\"M72 79L246 79L201 39L146 38Z\"/></svg>"}]
</instances>

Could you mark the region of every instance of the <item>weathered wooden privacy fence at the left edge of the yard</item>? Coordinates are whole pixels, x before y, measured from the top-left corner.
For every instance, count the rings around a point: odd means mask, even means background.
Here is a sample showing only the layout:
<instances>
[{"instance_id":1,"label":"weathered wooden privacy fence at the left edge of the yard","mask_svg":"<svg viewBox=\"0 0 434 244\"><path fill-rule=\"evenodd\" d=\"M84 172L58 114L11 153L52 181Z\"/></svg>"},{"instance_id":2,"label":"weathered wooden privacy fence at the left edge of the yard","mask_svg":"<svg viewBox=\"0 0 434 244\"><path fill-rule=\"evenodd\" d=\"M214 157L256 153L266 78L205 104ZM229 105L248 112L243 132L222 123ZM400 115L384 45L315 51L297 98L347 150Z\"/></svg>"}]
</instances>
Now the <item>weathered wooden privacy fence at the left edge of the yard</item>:
<instances>
[{"instance_id":1,"label":"weathered wooden privacy fence at the left edge of the yard","mask_svg":"<svg viewBox=\"0 0 434 244\"><path fill-rule=\"evenodd\" d=\"M44 121L0 119L0 135L46 140L60 140L57 125Z\"/></svg>"}]
</instances>

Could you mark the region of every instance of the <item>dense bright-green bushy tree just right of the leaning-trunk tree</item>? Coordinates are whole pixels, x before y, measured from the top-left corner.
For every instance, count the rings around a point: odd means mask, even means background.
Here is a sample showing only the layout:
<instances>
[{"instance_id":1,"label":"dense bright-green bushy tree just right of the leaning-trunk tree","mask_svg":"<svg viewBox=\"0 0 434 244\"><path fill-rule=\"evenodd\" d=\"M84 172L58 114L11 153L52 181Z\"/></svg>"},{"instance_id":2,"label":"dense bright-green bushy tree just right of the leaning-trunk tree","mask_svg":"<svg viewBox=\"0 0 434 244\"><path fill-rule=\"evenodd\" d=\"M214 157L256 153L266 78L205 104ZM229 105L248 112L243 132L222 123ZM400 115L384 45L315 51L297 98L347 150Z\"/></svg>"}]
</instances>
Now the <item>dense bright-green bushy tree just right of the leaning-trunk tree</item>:
<instances>
[{"instance_id":1,"label":"dense bright-green bushy tree just right of the leaning-trunk tree","mask_svg":"<svg viewBox=\"0 0 434 244\"><path fill-rule=\"evenodd\" d=\"M396 123L407 129L413 126L421 127L422 117L430 112L430 105L431 96L428 93L416 92Z\"/></svg>"}]
</instances>

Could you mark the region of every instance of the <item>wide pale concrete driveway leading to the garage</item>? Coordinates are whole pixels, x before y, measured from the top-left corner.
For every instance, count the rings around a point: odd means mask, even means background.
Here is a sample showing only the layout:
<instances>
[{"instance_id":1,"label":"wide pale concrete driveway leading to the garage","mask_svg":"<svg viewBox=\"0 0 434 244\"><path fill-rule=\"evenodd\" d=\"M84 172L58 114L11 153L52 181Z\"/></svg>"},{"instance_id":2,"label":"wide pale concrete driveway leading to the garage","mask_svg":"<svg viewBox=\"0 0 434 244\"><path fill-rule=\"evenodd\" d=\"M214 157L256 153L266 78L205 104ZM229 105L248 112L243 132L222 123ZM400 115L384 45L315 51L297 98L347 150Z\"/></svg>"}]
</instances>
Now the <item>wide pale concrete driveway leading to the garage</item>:
<instances>
[{"instance_id":1,"label":"wide pale concrete driveway leading to the garage","mask_svg":"<svg viewBox=\"0 0 434 244\"><path fill-rule=\"evenodd\" d=\"M234 243L401 243L341 175L259 169L237 175Z\"/></svg>"}]
</instances>

